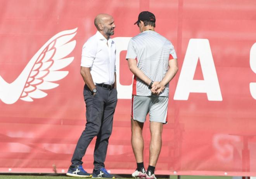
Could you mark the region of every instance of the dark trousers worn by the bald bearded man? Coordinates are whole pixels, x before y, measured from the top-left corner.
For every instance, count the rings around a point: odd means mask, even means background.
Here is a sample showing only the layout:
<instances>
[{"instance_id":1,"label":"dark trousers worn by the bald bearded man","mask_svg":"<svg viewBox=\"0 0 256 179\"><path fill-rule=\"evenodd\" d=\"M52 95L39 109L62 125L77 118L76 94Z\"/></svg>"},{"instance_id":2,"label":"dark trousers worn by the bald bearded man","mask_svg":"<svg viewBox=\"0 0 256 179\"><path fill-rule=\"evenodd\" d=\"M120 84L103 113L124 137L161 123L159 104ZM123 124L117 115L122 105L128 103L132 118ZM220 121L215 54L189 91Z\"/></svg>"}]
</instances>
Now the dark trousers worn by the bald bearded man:
<instances>
[{"instance_id":1,"label":"dark trousers worn by the bald bearded man","mask_svg":"<svg viewBox=\"0 0 256 179\"><path fill-rule=\"evenodd\" d=\"M82 158L93 137L97 136L94 148L94 170L105 167L107 145L112 132L113 115L117 103L116 88L108 90L96 86L98 92L93 96L85 85L83 95L86 104L86 125L76 144L72 166L83 164Z\"/></svg>"}]
</instances>

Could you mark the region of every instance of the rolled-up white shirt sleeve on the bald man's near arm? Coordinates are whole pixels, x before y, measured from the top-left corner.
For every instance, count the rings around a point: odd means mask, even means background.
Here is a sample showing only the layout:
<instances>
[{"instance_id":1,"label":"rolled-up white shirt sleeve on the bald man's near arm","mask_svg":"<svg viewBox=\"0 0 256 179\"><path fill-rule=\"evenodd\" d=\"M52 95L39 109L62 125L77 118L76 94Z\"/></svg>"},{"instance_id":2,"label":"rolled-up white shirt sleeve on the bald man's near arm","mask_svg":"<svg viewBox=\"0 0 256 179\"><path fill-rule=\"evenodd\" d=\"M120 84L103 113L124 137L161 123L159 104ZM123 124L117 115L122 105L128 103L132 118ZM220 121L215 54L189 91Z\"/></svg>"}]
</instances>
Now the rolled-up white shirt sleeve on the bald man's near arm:
<instances>
[{"instance_id":1,"label":"rolled-up white shirt sleeve on the bald man's near arm","mask_svg":"<svg viewBox=\"0 0 256 179\"><path fill-rule=\"evenodd\" d=\"M87 41L83 45L83 49L82 49L81 66L91 68L96 56L96 52L97 52L96 42Z\"/></svg>"}]
</instances>

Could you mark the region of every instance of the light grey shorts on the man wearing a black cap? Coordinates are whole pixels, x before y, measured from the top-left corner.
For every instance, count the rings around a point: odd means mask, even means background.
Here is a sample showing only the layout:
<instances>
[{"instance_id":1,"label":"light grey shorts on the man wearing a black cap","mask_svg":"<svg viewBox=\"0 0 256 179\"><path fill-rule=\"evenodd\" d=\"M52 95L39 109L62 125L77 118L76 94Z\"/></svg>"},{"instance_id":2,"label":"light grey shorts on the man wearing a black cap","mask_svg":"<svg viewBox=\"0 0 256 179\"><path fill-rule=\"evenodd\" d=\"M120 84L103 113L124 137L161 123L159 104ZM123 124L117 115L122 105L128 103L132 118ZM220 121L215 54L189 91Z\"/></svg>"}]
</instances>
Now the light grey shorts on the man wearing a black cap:
<instances>
[{"instance_id":1,"label":"light grey shorts on the man wearing a black cap","mask_svg":"<svg viewBox=\"0 0 256 179\"><path fill-rule=\"evenodd\" d=\"M167 96L136 96L131 98L131 118L138 122L145 122L149 113L149 120L167 123Z\"/></svg>"}]
</instances>

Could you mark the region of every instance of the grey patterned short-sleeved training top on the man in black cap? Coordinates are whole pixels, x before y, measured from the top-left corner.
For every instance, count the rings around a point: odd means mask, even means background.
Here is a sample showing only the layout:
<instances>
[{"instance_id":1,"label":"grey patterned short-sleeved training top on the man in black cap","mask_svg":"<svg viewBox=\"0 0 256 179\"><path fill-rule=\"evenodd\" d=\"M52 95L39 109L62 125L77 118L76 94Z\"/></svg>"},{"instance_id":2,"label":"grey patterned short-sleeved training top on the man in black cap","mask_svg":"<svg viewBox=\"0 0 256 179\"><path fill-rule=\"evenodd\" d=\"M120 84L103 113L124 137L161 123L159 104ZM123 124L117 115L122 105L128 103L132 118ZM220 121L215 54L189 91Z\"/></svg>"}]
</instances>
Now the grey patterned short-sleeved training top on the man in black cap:
<instances>
[{"instance_id":1,"label":"grey patterned short-sleeved training top on the man in black cap","mask_svg":"<svg viewBox=\"0 0 256 179\"><path fill-rule=\"evenodd\" d=\"M161 81L168 70L169 60L177 58L173 44L153 30L131 38L126 59L136 59L137 67L152 81ZM134 76L133 95L152 96L148 85ZM169 83L159 96L169 96Z\"/></svg>"}]
</instances>

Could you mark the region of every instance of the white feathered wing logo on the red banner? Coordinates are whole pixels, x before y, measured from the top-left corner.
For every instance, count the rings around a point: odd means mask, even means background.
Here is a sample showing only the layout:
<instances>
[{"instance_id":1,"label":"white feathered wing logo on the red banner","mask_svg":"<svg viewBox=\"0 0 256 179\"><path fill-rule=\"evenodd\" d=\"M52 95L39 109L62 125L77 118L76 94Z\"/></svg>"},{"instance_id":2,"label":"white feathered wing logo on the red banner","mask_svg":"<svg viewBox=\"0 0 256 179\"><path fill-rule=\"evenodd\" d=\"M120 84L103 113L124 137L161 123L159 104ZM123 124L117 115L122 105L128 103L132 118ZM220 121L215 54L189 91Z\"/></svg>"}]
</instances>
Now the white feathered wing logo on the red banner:
<instances>
[{"instance_id":1,"label":"white feathered wing logo on the red banner","mask_svg":"<svg viewBox=\"0 0 256 179\"><path fill-rule=\"evenodd\" d=\"M50 90L59 86L52 81L65 78L68 71L59 71L68 66L74 57L67 57L76 41L71 39L76 35L76 29L64 30L54 35L31 58L18 78L7 83L0 76L0 99L6 104L13 104L17 100L33 101L33 98L44 98Z\"/></svg>"}]
</instances>

